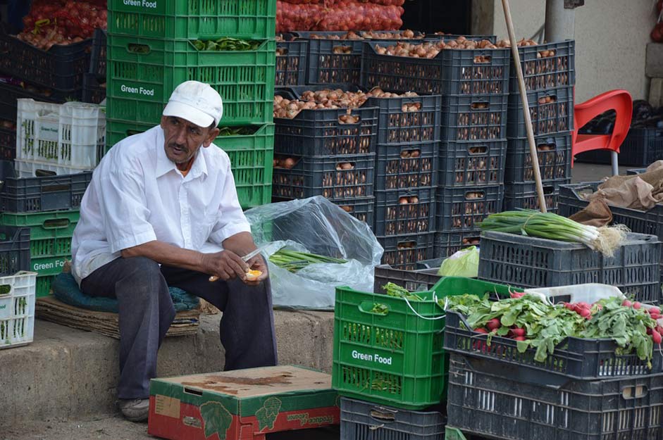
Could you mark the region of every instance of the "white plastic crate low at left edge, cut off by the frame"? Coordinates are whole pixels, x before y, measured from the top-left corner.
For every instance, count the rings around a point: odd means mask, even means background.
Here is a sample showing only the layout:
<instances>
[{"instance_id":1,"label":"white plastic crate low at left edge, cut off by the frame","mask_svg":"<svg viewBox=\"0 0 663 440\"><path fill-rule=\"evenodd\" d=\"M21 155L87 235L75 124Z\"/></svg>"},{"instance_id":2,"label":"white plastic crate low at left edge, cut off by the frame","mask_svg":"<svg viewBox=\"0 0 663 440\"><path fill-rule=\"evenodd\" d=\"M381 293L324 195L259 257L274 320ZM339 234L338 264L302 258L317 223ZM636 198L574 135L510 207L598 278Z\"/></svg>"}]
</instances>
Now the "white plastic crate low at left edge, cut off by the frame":
<instances>
[{"instance_id":1,"label":"white plastic crate low at left edge, cut off by the frame","mask_svg":"<svg viewBox=\"0 0 663 440\"><path fill-rule=\"evenodd\" d=\"M30 344L35 336L37 272L0 277L0 348ZM8 290L8 291L7 291Z\"/></svg>"}]
</instances>

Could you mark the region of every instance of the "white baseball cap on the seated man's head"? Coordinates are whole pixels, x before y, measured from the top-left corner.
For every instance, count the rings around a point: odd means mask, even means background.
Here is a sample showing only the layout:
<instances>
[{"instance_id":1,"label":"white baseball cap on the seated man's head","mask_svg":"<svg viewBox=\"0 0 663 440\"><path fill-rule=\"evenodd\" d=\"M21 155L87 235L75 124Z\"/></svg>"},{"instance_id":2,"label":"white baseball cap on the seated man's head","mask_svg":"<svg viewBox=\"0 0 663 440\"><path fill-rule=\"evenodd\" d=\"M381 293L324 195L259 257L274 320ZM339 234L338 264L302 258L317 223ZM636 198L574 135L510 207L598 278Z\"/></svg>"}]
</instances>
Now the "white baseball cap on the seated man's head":
<instances>
[{"instance_id":1,"label":"white baseball cap on the seated man's head","mask_svg":"<svg viewBox=\"0 0 663 440\"><path fill-rule=\"evenodd\" d=\"M214 122L216 127L223 115L223 101L209 84L186 81L175 88L163 115L182 118L199 127L209 127Z\"/></svg>"}]
</instances>

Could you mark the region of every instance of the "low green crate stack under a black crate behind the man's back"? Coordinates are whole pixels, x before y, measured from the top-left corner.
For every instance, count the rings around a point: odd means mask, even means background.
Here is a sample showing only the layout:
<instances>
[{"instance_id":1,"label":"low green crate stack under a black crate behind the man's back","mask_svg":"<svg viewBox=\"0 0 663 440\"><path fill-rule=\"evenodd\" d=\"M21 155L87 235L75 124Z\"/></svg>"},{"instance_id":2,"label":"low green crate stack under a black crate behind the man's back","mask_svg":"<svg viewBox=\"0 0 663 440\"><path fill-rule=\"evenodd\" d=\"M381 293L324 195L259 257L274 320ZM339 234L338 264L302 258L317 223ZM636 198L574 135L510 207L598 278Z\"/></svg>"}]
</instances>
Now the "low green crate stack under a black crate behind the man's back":
<instances>
[{"instance_id":1,"label":"low green crate stack under a black crate behind the man's back","mask_svg":"<svg viewBox=\"0 0 663 440\"><path fill-rule=\"evenodd\" d=\"M51 282L71 260L71 237L78 208L38 213L1 213L0 225L30 227L30 270L37 272L37 298L47 296Z\"/></svg>"}]
</instances>

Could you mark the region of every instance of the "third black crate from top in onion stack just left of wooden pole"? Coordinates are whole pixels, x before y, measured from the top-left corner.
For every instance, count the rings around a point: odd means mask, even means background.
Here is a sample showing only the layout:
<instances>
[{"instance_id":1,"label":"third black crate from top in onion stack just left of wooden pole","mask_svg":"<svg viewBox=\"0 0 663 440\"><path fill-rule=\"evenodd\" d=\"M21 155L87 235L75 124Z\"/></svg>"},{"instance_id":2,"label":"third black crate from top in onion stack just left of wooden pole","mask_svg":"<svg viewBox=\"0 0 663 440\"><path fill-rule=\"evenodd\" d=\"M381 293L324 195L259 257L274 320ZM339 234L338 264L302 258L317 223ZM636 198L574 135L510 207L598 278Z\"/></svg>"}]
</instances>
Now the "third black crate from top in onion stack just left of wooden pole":
<instances>
[{"instance_id":1,"label":"third black crate from top in onion stack just left of wooden pole","mask_svg":"<svg viewBox=\"0 0 663 440\"><path fill-rule=\"evenodd\" d=\"M438 184L447 188L504 183L506 141L443 142Z\"/></svg>"}]
</instances>

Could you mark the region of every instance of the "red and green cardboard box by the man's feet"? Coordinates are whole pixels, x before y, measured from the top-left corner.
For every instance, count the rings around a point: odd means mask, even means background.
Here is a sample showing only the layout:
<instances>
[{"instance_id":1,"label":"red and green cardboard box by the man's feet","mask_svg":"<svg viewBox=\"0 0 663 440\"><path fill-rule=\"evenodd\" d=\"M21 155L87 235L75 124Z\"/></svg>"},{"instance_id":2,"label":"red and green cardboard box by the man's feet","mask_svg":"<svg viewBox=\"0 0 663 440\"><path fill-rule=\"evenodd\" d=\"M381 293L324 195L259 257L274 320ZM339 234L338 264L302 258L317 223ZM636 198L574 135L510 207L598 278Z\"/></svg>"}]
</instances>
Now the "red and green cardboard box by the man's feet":
<instances>
[{"instance_id":1,"label":"red and green cardboard box by the man's feet","mask_svg":"<svg viewBox=\"0 0 663 440\"><path fill-rule=\"evenodd\" d=\"M152 379L147 432L170 440L264 440L269 432L337 425L323 372L290 365Z\"/></svg>"}]
</instances>

